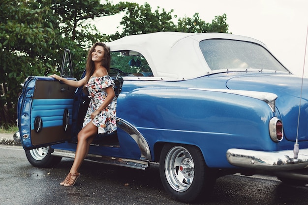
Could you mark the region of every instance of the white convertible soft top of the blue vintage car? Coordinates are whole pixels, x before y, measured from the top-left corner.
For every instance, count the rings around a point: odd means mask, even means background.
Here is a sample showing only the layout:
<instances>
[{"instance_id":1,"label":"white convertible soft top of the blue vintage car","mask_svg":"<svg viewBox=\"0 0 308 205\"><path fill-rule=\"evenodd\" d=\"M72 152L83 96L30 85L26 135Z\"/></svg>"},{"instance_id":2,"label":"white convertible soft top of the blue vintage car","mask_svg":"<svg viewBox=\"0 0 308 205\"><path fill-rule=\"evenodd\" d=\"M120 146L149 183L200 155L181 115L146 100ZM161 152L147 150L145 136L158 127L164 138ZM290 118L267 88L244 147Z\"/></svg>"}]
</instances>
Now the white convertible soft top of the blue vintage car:
<instances>
[{"instance_id":1,"label":"white convertible soft top of the blue vintage car","mask_svg":"<svg viewBox=\"0 0 308 205\"><path fill-rule=\"evenodd\" d=\"M205 39L234 39L266 46L253 38L226 33L157 32L125 36L109 42L110 51L137 51L148 61L154 77L191 79L213 73L199 48Z\"/></svg>"}]
</instances>

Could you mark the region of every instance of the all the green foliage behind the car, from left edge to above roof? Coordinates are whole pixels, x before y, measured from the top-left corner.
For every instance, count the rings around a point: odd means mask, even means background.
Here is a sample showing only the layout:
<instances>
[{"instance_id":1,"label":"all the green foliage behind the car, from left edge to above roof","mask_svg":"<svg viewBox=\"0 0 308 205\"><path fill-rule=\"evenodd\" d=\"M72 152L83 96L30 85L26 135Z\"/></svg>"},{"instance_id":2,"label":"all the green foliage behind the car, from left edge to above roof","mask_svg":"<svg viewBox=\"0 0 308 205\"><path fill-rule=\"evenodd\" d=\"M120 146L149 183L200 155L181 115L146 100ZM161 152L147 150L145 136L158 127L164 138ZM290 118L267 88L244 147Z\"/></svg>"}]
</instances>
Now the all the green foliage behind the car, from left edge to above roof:
<instances>
[{"instance_id":1,"label":"all the green foliage behind the car, from left edge to above roof","mask_svg":"<svg viewBox=\"0 0 308 205\"><path fill-rule=\"evenodd\" d=\"M157 31L227 32L226 15L205 23L196 13L192 19L172 21L171 11L148 3L138 5L109 0L0 0L0 125L15 124L16 102L21 83L28 76L59 73L63 49L71 51L74 76L85 68L87 50L94 42L114 40L125 35ZM124 12L123 32L107 36L99 33L89 20ZM120 58L119 58L120 59ZM114 58L127 72L147 72L145 59L141 67L127 67L127 60ZM126 67L127 68L126 68ZM125 70L125 72L126 72Z\"/></svg>"}]
</instances>

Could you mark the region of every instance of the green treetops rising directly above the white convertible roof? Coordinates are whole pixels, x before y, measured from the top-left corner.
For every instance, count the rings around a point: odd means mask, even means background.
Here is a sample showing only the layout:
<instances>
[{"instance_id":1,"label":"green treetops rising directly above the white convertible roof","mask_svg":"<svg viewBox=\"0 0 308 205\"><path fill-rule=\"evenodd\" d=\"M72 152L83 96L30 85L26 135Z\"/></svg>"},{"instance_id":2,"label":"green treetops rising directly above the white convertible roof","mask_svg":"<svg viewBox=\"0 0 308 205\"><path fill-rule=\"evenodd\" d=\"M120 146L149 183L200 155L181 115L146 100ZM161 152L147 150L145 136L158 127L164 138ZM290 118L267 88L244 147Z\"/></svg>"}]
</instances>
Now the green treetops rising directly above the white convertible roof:
<instances>
[{"instance_id":1,"label":"green treetops rising directly above the white convertible roof","mask_svg":"<svg viewBox=\"0 0 308 205\"><path fill-rule=\"evenodd\" d=\"M160 11L159 7L152 12L148 3L144 5L132 4L127 8L120 25L123 31L111 35L112 40L126 35L152 33L159 31L178 31L189 33L220 32L228 33L227 16L215 16L212 23L206 23L200 19L199 13L195 13L192 18L184 17L178 19L178 25L175 25L172 16L173 10L167 12L164 9Z\"/></svg>"}]
</instances>

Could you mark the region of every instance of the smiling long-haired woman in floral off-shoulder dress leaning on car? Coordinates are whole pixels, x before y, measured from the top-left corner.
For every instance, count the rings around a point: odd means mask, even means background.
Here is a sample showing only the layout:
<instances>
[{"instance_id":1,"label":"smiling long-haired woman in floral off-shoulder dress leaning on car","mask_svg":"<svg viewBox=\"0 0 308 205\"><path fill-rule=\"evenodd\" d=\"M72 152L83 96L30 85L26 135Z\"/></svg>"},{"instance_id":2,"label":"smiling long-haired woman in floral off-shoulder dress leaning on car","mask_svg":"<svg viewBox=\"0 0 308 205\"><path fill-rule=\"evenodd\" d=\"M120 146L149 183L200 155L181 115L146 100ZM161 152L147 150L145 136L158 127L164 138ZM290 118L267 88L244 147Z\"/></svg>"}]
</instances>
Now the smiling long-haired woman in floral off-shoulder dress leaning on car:
<instances>
[{"instance_id":1,"label":"smiling long-haired woman in floral off-shoulder dress leaning on car","mask_svg":"<svg viewBox=\"0 0 308 205\"><path fill-rule=\"evenodd\" d=\"M60 183L62 186L73 186L80 177L78 170L89 153L90 144L97 133L111 133L117 129L117 99L113 90L114 82L108 76L110 70L110 51L104 43L95 43L88 53L86 76L79 80L68 80L51 75L63 83L88 89L91 99L83 128L78 133L75 159L67 177Z\"/></svg>"}]
</instances>

